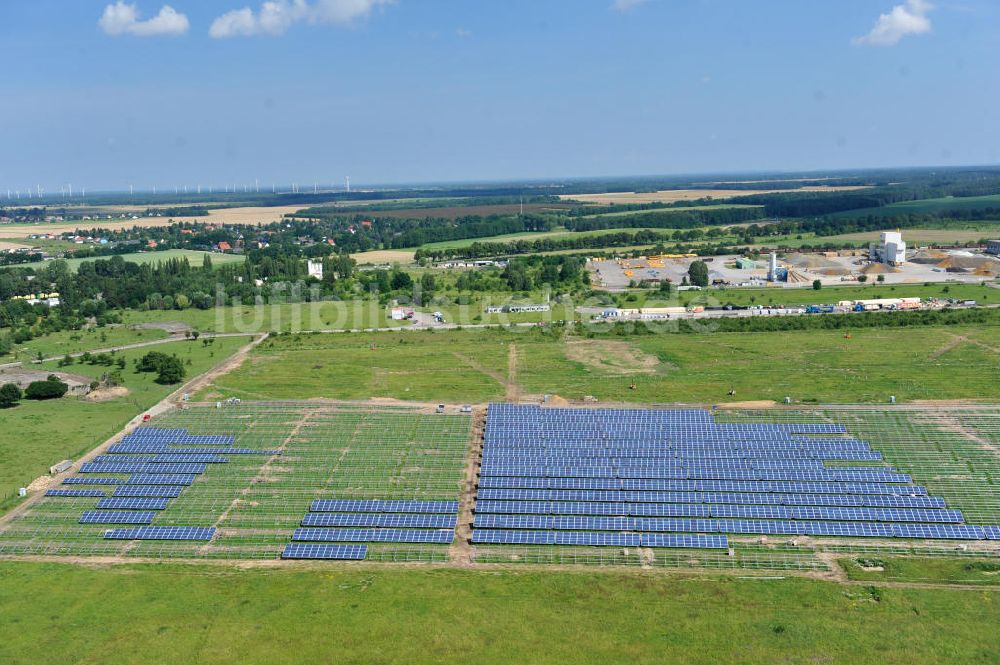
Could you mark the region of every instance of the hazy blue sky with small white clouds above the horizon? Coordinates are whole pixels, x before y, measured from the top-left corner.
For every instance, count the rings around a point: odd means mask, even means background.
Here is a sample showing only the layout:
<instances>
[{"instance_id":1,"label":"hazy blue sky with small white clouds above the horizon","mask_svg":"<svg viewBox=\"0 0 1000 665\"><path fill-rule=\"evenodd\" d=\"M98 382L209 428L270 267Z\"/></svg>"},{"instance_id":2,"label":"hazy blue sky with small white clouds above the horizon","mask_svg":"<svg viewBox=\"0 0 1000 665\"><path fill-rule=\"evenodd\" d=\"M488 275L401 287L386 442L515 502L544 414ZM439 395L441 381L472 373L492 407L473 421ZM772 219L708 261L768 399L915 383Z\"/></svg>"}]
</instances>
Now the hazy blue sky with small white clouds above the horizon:
<instances>
[{"instance_id":1,"label":"hazy blue sky with small white clouds above the horizon","mask_svg":"<svg viewBox=\"0 0 1000 665\"><path fill-rule=\"evenodd\" d=\"M108 4L0 0L0 190L1000 162L992 0Z\"/></svg>"}]
</instances>

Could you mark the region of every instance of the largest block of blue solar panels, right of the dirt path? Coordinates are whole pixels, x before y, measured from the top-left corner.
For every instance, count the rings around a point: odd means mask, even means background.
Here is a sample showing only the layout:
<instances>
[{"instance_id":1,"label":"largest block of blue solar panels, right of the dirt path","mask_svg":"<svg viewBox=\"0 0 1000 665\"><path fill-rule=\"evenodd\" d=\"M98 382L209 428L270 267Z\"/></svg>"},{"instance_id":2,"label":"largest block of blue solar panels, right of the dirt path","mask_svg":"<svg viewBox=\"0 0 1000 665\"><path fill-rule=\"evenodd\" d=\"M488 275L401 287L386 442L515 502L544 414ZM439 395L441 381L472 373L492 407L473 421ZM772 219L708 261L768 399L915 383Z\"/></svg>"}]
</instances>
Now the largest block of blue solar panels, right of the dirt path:
<instances>
[{"instance_id":1,"label":"largest block of blue solar panels, right of the dirt path","mask_svg":"<svg viewBox=\"0 0 1000 665\"><path fill-rule=\"evenodd\" d=\"M726 547L725 536L709 534L1000 539L1000 528L965 524L881 459L834 423L491 404L473 542L713 548Z\"/></svg>"}]
</instances>

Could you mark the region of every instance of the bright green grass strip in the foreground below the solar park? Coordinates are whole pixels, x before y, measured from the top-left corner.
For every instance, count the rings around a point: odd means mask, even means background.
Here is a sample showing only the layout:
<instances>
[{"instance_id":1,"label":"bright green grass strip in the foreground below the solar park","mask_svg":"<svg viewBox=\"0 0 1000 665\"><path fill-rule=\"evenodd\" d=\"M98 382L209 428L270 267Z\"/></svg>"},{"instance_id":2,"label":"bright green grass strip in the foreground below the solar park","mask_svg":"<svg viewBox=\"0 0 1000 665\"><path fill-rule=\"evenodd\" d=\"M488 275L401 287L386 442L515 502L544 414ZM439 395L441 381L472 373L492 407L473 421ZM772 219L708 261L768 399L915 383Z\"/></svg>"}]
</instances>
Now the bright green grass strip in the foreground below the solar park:
<instances>
[{"instance_id":1,"label":"bright green grass strip in the foreground below the solar park","mask_svg":"<svg viewBox=\"0 0 1000 665\"><path fill-rule=\"evenodd\" d=\"M989 663L995 591L324 565L0 563L0 661ZM109 601L113 598L113 601Z\"/></svg>"}]
</instances>

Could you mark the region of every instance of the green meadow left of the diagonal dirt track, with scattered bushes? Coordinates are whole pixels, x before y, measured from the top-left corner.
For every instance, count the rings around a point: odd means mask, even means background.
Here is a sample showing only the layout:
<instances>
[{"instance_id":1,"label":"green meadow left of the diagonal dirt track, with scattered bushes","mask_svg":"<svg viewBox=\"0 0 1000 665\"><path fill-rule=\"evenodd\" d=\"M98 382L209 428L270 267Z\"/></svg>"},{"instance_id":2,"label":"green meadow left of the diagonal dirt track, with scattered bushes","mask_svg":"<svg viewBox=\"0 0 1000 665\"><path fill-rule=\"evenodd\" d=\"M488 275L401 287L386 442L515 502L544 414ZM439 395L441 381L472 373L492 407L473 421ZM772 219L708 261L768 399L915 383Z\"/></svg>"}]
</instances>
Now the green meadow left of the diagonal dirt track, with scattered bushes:
<instances>
[{"instance_id":1,"label":"green meadow left of the diagonal dirt track, with scattered bushes","mask_svg":"<svg viewBox=\"0 0 1000 665\"><path fill-rule=\"evenodd\" d=\"M210 346L201 342L176 342L152 347L164 353L176 353L187 365L188 377L200 374L224 360L233 351L247 343L247 338L220 338ZM19 406L0 409L0 507L5 501L9 506L16 497L18 487L48 473L49 466L66 458L76 458L94 448L120 430L132 419L177 386L161 386L153 381L152 374L132 371L133 358L149 349L120 352L129 365L123 371L125 387L129 394L105 402L92 402L77 397L64 397L43 402L22 400ZM58 368L55 362L35 365L33 368L68 371L97 378L115 369L99 365L74 364Z\"/></svg>"}]
</instances>

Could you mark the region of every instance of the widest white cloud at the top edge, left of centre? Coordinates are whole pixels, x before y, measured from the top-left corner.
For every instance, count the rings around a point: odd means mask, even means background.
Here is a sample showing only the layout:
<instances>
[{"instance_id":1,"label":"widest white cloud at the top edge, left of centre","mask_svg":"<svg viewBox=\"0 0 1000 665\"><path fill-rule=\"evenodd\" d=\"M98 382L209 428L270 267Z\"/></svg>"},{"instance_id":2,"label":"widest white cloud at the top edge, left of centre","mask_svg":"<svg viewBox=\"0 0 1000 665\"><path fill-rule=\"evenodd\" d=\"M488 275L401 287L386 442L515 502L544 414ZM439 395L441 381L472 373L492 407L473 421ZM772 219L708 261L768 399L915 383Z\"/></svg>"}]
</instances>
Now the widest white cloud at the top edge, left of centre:
<instances>
[{"instance_id":1,"label":"widest white cloud at the top edge, left of centre","mask_svg":"<svg viewBox=\"0 0 1000 665\"><path fill-rule=\"evenodd\" d=\"M212 21L208 34L217 39L283 35L300 21L350 25L372 10L396 0L268 0L255 12L249 7L226 12Z\"/></svg>"}]
</instances>

